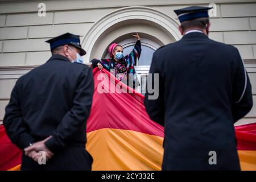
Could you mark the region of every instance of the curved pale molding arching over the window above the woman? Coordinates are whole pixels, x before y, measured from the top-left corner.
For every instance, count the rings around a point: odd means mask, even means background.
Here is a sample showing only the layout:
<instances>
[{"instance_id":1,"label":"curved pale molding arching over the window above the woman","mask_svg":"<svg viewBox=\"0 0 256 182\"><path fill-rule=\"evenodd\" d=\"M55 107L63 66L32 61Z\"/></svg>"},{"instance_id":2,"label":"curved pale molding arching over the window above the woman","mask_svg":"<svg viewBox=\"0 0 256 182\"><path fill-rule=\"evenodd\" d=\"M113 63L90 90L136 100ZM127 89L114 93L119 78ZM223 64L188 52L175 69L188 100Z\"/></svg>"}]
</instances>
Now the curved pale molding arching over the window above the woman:
<instances>
[{"instance_id":1,"label":"curved pale molding arching over the window above the woman","mask_svg":"<svg viewBox=\"0 0 256 182\"><path fill-rule=\"evenodd\" d=\"M138 22L138 20L141 22ZM168 36L170 36L170 38L172 38L174 41L181 39L181 35L178 30L179 24L170 16L150 7L125 7L103 16L100 20L93 24L93 26L84 36L81 44L82 48L84 48L87 52L84 56L85 63L89 63L90 59L92 59L92 50L94 51L94 46L100 42L101 39L104 39L104 35L113 31L116 27L118 27L118 25L121 26L120 24L125 21L129 23L133 23L134 21L134 23L138 24L151 22L151 24L148 24L148 26L158 28L159 30L166 32L166 34L168 34ZM142 33L147 34L148 32ZM113 37L112 39L117 39L118 35L116 36L117 37Z\"/></svg>"}]
</instances>

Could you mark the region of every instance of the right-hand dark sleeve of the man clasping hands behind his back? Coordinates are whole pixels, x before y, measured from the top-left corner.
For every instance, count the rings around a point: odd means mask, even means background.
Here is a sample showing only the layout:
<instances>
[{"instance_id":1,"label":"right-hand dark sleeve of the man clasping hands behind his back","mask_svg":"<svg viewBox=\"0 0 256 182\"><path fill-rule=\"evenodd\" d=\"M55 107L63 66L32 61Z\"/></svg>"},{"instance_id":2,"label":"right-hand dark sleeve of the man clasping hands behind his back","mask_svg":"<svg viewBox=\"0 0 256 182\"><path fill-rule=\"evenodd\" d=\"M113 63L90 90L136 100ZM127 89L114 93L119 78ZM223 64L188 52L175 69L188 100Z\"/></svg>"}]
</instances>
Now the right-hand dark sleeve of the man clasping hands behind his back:
<instances>
[{"instance_id":1,"label":"right-hand dark sleeve of the man clasping hands behind his back","mask_svg":"<svg viewBox=\"0 0 256 182\"><path fill-rule=\"evenodd\" d=\"M45 143L49 150L55 152L67 146L72 135L86 124L92 106L93 90L92 69L84 68L79 78L71 110L64 115L53 132L52 138Z\"/></svg>"}]
</instances>

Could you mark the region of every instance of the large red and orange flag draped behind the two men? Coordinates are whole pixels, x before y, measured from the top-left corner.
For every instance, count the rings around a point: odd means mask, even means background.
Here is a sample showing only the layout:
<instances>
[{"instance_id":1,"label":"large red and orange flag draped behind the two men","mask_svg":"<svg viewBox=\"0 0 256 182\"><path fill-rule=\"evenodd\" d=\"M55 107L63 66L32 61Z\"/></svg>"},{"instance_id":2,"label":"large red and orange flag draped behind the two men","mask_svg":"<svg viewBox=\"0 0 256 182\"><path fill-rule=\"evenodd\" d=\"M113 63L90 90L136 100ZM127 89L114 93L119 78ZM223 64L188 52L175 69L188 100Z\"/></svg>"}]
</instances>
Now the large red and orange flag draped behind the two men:
<instances>
[{"instance_id":1,"label":"large red and orange flag draped behind the two men","mask_svg":"<svg viewBox=\"0 0 256 182\"><path fill-rule=\"evenodd\" d=\"M150 120L144 96L108 71L93 70L94 95L86 149L93 170L160 170L163 127ZM131 92L131 93L130 93ZM242 170L256 170L256 123L236 127ZM21 151L0 126L0 170L19 170Z\"/></svg>"}]
</instances>

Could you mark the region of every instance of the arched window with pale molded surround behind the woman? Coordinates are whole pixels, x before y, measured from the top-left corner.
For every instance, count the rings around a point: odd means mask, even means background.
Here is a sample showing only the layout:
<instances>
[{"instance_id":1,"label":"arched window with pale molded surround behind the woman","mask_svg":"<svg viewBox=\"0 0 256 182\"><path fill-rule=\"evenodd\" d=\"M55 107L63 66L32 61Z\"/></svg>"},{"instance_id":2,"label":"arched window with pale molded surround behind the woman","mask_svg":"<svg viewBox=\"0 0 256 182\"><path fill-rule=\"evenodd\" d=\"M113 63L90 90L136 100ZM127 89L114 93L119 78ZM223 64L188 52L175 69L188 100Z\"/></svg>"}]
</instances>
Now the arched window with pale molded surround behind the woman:
<instances>
[{"instance_id":1,"label":"arched window with pale molded surround behind the woman","mask_svg":"<svg viewBox=\"0 0 256 182\"><path fill-rule=\"evenodd\" d=\"M153 50L181 39L178 27L175 19L150 7L131 6L115 10L95 22L84 36L85 63L94 58L109 58L108 46L113 42L121 44L129 52L129 46L132 48L136 42L130 34L138 31L142 38L142 61L139 60L135 70L140 80L150 69ZM141 92L142 88L143 84L136 90Z\"/></svg>"}]
</instances>

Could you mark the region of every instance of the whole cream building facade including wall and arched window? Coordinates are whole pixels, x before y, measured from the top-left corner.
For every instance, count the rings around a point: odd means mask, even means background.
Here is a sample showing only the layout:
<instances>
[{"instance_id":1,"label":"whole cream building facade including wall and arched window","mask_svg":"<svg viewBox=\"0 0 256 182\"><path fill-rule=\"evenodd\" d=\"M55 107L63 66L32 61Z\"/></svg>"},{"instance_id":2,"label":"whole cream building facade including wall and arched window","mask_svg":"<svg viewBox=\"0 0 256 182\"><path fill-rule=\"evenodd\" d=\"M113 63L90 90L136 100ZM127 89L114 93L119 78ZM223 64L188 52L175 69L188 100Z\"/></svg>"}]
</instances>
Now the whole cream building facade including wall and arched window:
<instances>
[{"instance_id":1,"label":"whole cream building facade including wall and arched window","mask_svg":"<svg viewBox=\"0 0 256 182\"><path fill-rule=\"evenodd\" d=\"M107 48L112 42L121 44L124 53L131 51L136 39L130 34L138 32L142 55L135 69L143 83L154 51L181 38L173 10L210 3L214 9L210 12L209 37L239 49L255 103L256 1L12 0L0 1L0 124L16 80L51 56L47 39L65 32L81 35L82 47L87 52L84 60L89 65L93 58L108 57ZM143 86L137 90L143 92ZM253 122L256 122L255 105L236 125Z\"/></svg>"}]
</instances>

